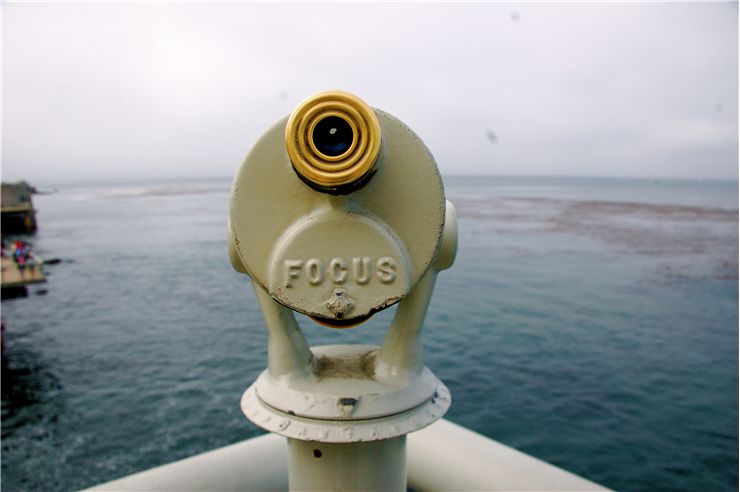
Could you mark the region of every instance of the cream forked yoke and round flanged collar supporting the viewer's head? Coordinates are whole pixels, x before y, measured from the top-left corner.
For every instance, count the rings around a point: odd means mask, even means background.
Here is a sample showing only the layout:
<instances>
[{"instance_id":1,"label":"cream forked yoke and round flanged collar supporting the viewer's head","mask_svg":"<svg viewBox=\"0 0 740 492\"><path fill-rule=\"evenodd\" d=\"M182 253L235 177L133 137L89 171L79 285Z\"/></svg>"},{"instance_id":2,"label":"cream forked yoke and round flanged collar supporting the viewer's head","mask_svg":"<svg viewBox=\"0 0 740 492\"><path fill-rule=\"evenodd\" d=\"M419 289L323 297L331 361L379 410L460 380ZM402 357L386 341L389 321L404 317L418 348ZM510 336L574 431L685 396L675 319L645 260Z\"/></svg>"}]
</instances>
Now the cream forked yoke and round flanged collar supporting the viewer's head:
<instances>
[{"instance_id":1,"label":"cream forked yoke and round flanged collar supporting the viewer's head","mask_svg":"<svg viewBox=\"0 0 740 492\"><path fill-rule=\"evenodd\" d=\"M440 418L450 393L423 364L421 328L437 273L452 264L456 249L448 203L437 258L399 304L382 347L310 349L293 313L255 286L270 333L268 369L245 392L245 415L289 438L335 443L390 439Z\"/></svg>"}]
</instances>

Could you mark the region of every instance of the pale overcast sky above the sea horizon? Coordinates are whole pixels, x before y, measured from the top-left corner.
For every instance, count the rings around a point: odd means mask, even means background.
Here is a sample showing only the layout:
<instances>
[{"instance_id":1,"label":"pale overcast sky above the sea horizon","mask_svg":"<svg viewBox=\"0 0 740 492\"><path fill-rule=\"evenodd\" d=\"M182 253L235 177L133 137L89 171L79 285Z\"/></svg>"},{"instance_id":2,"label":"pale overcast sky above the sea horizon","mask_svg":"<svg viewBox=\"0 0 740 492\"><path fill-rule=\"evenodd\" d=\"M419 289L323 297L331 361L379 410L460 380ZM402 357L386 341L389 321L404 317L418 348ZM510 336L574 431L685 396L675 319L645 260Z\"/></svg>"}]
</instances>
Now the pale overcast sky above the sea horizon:
<instances>
[{"instance_id":1,"label":"pale overcast sky above the sea horizon","mask_svg":"<svg viewBox=\"0 0 740 492\"><path fill-rule=\"evenodd\" d=\"M445 174L738 176L737 3L5 3L2 178L231 176L310 94Z\"/></svg>"}]
</instances>

